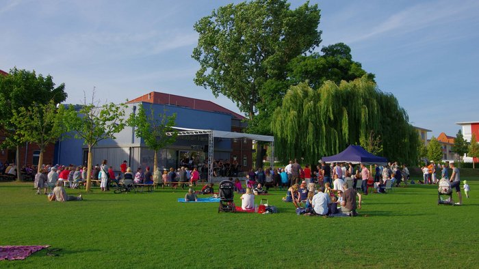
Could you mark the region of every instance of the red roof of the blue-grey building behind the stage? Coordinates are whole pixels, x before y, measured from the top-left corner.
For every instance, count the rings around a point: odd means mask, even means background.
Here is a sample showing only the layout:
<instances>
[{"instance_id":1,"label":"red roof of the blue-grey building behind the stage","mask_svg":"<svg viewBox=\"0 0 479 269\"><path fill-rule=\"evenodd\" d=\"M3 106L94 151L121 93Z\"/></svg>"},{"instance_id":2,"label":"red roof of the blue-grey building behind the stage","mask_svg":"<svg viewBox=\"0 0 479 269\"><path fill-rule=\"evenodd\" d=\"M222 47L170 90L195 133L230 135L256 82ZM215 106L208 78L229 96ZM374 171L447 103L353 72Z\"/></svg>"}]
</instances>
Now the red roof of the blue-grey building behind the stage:
<instances>
[{"instance_id":1,"label":"red roof of the blue-grey building behind the stage","mask_svg":"<svg viewBox=\"0 0 479 269\"><path fill-rule=\"evenodd\" d=\"M229 109L221 107L219 104L208 100L201 100L190 98L186 96L177 96L175 94L165 94L158 91L151 91L148 94L135 98L128 103L134 102L150 102L152 104L170 104L178 107L187 107L190 109L197 109L202 111L220 112L231 115L236 119L246 119L246 117L239 115Z\"/></svg>"}]
</instances>

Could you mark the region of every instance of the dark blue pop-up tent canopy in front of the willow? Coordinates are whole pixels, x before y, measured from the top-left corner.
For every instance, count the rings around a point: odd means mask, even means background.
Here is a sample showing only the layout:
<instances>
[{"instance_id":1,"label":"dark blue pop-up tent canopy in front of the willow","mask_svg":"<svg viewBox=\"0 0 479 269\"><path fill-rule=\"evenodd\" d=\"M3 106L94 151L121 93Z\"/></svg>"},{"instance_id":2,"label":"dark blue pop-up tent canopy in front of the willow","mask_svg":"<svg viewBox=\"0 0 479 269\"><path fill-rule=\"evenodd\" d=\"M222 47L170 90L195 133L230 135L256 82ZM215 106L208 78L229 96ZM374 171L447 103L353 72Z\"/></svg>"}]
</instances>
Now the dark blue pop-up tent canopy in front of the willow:
<instances>
[{"instance_id":1,"label":"dark blue pop-up tent canopy in front of the willow","mask_svg":"<svg viewBox=\"0 0 479 269\"><path fill-rule=\"evenodd\" d=\"M387 165L386 158L371 154L359 145L350 145L346 150L343 150L343 152L333 156L323 157L321 160L328 163L352 162L354 165L358 163L363 163L364 165Z\"/></svg>"}]
</instances>

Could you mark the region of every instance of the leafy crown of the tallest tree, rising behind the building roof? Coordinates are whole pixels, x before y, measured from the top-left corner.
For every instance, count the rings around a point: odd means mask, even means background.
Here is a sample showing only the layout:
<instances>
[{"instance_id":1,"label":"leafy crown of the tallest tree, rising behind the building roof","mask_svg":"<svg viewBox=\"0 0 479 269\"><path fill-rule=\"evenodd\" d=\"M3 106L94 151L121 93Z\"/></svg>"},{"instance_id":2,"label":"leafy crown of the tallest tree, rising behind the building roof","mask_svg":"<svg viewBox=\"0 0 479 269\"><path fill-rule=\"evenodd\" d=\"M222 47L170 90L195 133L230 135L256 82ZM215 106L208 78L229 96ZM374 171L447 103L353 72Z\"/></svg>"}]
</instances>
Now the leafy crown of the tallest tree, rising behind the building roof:
<instances>
[{"instance_id":1,"label":"leafy crown of the tallest tree, rising behind the building roof","mask_svg":"<svg viewBox=\"0 0 479 269\"><path fill-rule=\"evenodd\" d=\"M286 79L289 61L321 42L318 5L289 9L284 0L229 4L198 20L198 46L192 57L200 63L194 82L233 100L254 119L264 102L263 85Z\"/></svg>"}]
</instances>

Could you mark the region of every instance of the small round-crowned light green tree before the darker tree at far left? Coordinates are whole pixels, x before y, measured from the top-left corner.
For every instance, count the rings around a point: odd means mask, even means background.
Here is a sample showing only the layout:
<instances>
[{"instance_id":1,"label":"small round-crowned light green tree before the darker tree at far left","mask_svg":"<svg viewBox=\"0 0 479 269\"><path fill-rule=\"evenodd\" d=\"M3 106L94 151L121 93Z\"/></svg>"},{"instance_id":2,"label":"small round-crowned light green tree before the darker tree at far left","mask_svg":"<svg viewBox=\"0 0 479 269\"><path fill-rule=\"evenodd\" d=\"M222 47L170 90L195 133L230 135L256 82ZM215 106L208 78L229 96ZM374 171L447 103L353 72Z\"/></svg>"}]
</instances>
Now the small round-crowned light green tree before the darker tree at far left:
<instances>
[{"instance_id":1,"label":"small round-crowned light green tree before the darker tree at far left","mask_svg":"<svg viewBox=\"0 0 479 269\"><path fill-rule=\"evenodd\" d=\"M38 158L38 173L40 173L43 164L43 154L45 149L51 143L55 143L64 132L65 113L75 113L75 111L66 111L64 106L58 106L51 100L48 104L34 103L31 107L21 107L18 111L13 111L12 120L16 132L21 134L23 142L35 143L40 149Z\"/></svg>"}]
</instances>

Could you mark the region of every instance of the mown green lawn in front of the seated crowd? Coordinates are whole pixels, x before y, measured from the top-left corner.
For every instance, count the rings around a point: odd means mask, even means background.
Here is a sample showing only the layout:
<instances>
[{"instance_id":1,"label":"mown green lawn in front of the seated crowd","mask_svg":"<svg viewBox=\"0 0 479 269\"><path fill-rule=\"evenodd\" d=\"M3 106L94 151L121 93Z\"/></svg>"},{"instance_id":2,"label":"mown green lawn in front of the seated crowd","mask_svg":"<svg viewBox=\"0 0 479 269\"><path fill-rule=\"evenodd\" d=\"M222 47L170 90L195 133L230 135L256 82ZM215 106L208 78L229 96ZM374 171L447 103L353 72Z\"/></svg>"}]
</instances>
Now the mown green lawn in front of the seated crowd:
<instances>
[{"instance_id":1,"label":"mown green lawn in front of the seated crowd","mask_svg":"<svg viewBox=\"0 0 479 269\"><path fill-rule=\"evenodd\" d=\"M0 244L62 251L0 268L478 268L479 181L465 179L463 206L437 206L435 186L413 185L368 195L355 218L297 216L279 190L266 196L279 214L218 214L217 203L177 203L182 190L94 188L60 203L2 182Z\"/></svg>"}]
</instances>

